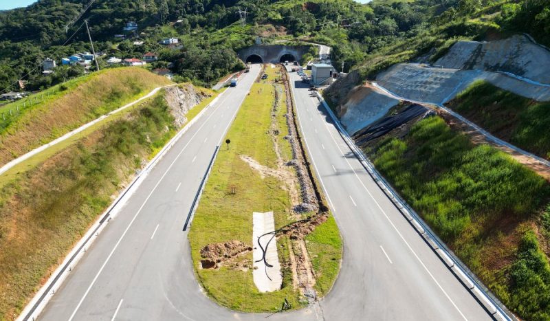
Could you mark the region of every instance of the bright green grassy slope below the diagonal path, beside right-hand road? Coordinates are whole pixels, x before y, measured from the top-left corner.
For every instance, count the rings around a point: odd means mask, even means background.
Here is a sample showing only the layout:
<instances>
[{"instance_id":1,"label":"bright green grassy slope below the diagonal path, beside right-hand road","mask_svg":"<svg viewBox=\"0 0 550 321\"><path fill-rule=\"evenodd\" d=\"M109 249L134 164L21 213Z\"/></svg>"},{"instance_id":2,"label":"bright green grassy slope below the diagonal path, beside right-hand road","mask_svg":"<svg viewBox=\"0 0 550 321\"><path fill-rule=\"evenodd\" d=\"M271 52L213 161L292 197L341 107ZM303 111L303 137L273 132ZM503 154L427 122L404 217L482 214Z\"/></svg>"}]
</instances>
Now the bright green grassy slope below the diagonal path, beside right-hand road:
<instances>
[{"instance_id":1,"label":"bright green grassy slope below the diagonal path, beside right-hand road","mask_svg":"<svg viewBox=\"0 0 550 321\"><path fill-rule=\"evenodd\" d=\"M530 309L521 309L526 296L519 296L533 283L510 279L520 258L516 249L529 231L537 229L550 197L550 186L542 177L490 146L474 146L438 117L415 124L404 140L380 142L370 155L406 201L507 307L522 318L532 318L538 310L550 316L544 293L531 291ZM542 256L540 262L547 258ZM544 276L544 265L537 266L529 270L533 278L542 278L539 289L546 289L550 278Z\"/></svg>"}]
</instances>

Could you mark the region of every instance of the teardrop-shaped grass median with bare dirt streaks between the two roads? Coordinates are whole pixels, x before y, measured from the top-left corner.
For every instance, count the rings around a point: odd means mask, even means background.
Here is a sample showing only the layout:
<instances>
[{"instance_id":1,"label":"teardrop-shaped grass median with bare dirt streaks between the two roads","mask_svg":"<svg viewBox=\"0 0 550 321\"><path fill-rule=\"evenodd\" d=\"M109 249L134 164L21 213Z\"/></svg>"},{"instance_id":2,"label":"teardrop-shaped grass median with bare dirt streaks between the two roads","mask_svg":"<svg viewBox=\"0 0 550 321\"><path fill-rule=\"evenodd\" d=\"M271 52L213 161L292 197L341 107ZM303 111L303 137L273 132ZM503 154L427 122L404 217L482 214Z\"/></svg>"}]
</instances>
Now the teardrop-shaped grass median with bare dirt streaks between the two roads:
<instances>
[{"instance_id":1,"label":"teardrop-shaped grass median with bare dirt streaks between the two roads","mask_svg":"<svg viewBox=\"0 0 550 321\"><path fill-rule=\"evenodd\" d=\"M300 188L296 171L287 165L292 148L279 72L268 65L267 80L255 83L244 100L227 134L230 148L222 146L219 151L188 235L195 272L206 294L239 311L274 312L285 300L292 309L307 305L296 281L296 265L300 264L296 261L301 258L311 257L314 274L319 276L315 289L321 295L331 288L340 266L340 233L329 217L316 228L311 225L313 232L303 243L290 235L278 236L281 290L261 293L254 284L251 250L257 245L252 243L252 213L273 211L276 229L315 216L293 210L303 200L293 191ZM206 266L204 251L214 247L223 248L225 257Z\"/></svg>"}]
</instances>

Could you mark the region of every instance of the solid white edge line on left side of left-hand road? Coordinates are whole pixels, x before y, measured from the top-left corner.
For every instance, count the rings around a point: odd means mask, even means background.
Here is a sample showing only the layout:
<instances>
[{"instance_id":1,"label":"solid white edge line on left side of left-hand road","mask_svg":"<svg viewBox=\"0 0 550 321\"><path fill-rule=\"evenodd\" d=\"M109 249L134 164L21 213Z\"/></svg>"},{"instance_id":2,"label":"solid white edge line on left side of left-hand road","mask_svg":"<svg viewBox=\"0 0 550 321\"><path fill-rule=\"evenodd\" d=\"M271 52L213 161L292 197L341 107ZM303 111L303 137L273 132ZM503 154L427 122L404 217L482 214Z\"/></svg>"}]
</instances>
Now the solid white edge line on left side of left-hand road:
<instances>
[{"instance_id":1,"label":"solid white edge line on left side of left-hand road","mask_svg":"<svg viewBox=\"0 0 550 321\"><path fill-rule=\"evenodd\" d=\"M243 100L246 98L246 95L245 97L241 100L241 104L243 102ZM225 100L228 99L228 96L225 96L223 98L223 101L225 102ZM221 104L222 102L220 102ZM241 104L239 104L239 107L241 106ZM238 111L239 109L237 109ZM214 110L215 111L215 110ZM166 169L166 171L164 172L164 174L162 175L162 177L160 177L159 181L157 181L157 184L155 184L155 186L153 186L153 189L151 190L151 192L149 192L149 195L146 197L146 199L143 201L142 203L142 206L140 206L140 208L137 210L137 212L135 212L132 220L130 221L130 223L128 224L128 226L126 227L126 230L124 230L124 232L122 232L122 235L120 236L120 238L118 239L117 243L115 243L115 246L113 247L113 250L111 250L111 252L109 253L109 256L107 256L107 258L105 259L105 261L103 262L103 264L101 265L98 273L96 274L96 276L94 277L93 280L91 280L91 283L90 285L88 286L88 288L86 289L85 293L83 294L83 297L80 298L80 301L78 302L78 305L76 305L76 308L74 308L74 311L73 313L71 314L71 316L69 317L69 321L72 321L74 316L76 315L76 312L78 311L78 309L80 309L80 306L83 304L84 300L86 299L86 297L88 296L89 294L89 291L91 290L92 287L94 287L94 284L96 283L96 281L98 280L101 272L103 271L103 269L105 268L105 266L107 265L107 263L109 263L109 260L111 260L111 257L113 256L115 250L118 248L118 245L120 245L120 242L122 242L122 239L124 239L124 236L126 236L126 233L128 232L128 230L130 230L131 226L133 225L133 222L135 221L135 219L137 218L137 215L140 214L140 212L142 211L142 209L144 208L145 204L147 203L147 201L151 198L151 196L153 195L153 192L155 192L155 190L157 189L157 187L160 185L160 183L162 182L162 180L164 179L164 177L168 174L168 172L170 171L170 169L172 169L172 167L174 166L174 164L177 162L177 159L179 159L179 157L181 156L181 154L184 153L184 151L186 150L187 146L189 146L189 144L192 142L192 140L195 138L195 136L197 136L198 133L200 133L201 129L206 125L208 124L208 120L210 120L210 118L212 118L212 116L214 115L214 112L210 113L210 115L208 116L208 118L206 118L206 120L203 122L203 124L201 124L201 126L199 127L199 129L197 129L197 131L195 132L195 134L193 134L189 141L187 142L187 144L185 144L185 146L183 148L181 148L181 151L179 151L179 153L176 155L175 159L172 161L172 163L170 163L170 166L168 166L168 168ZM223 137L222 137L223 138Z\"/></svg>"}]
</instances>

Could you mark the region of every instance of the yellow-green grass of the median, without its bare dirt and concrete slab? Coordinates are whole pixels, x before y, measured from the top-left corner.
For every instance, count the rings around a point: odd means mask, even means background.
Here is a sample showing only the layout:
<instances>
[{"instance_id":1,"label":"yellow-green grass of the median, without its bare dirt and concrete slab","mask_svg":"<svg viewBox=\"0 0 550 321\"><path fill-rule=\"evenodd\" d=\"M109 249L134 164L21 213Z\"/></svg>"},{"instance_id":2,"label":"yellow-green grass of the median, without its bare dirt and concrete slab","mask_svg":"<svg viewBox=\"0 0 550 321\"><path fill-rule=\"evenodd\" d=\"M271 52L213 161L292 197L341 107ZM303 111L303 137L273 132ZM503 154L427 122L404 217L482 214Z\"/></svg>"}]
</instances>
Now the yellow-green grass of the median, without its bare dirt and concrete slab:
<instances>
[{"instance_id":1,"label":"yellow-green grass of the median, without its bare dirt and concrete slab","mask_svg":"<svg viewBox=\"0 0 550 321\"><path fill-rule=\"evenodd\" d=\"M272 80L276 68L268 65L266 73ZM282 87L281 87L282 89ZM259 91L261 90L261 93ZM282 93L280 91L281 100ZM239 311L276 311L281 309L286 298L293 308L303 307L298 291L292 287L292 274L283 267L283 287L280 291L260 293L248 272L221 267L219 270L200 269L201 248L209 243L239 240L252 243L252 212L272 210L275 227L290 223L289 195L281 189L283 182L273 177L261 179L239 155L248 155L265 166L276 168L276 154L267 131L270 129L271 109L274 103L274 87L266 81L254 84L250 96L243 102L227 137L231 140L230 151L222 150L214 163L212 173L201 197L199 208L189 232L192 259L199 283L208 296L220 305ZM292 155L287 140L284 121L286 104L281 105L277 121L281 129L279 144L283 157ZM289 158L286 158L288 160ZM228 186L236 187L236 194L229 193ZM215 229L212 229L215 226ZM314 261L316 273L321 276L318 284L320 294L325 294L338 274L341 258L341 241L336 223L331 218L308 236L309 254ZM278 239L278 254L281 261L288 261L289 239ZM327 254L327 255L324 255ZM252 253L243 258L252 262ZM284 266L284 264L281 264Z\"/></svg>"}]
</instances>

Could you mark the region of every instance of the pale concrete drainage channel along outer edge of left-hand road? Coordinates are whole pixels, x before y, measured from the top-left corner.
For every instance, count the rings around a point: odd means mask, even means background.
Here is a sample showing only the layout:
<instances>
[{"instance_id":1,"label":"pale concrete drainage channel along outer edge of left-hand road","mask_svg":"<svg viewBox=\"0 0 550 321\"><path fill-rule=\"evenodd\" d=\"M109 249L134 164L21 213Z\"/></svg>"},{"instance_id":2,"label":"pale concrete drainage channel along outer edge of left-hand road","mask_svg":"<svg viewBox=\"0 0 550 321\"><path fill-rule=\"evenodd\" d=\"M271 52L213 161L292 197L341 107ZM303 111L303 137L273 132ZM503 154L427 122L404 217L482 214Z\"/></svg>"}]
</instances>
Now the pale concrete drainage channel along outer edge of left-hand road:
<instances>
[{"instance_id":1,"label":"pale concrete drainage channel along outer edge of left-hand road","mask_svg":"<svg viewBox=\"0 0 550 321\"><path fill-rule=\"evenodd\" d=\"M223 92L225 93L225 91ZM78 261L80 261L80 258L84 256L86 251L89 249L89 247L96 241L99 234L102 232L102 230L107 226L107 223L115 217L115 215L118 212L119 206L123 206L129 197L133 194L137 186L140 186L142 181L144 181L145 177L147 177L149 171L153 166L159 162L164 155L174 146L174 144L181 138L184 133L187 132L187 130L192 126L192 124L195 124L197 120L201 118L201 116L206 113L210 107L217 102L217 100L223 95L223 93L220 93L216 98L208 104L208 106L204 107L203 110L201 110L195 118L190 120L188 124L184 126L163 148L153 159L151 159L151 162L145 166L145 168L138 174L133 181L131 181L131 184L129 184L128 187L124 188L120 195L111 203L111 206L103 212L103 214L100 216L100 219L94 223L94 225L91 226L91 228L86 232L86 234L83 236L78 243L73 247L71 252L65 257L65 260L61 265L54 271L52 276L46 281L46 283L39 289L39 291L36 293L36 295L32 298L32 300L28 303L28 305L23 309L23 312L21 315L17 318L17 321L27 321L27 320L36 320L40 313L43 311L43 309L46 307L47 302L50 302L52 296L56 293L56 291L61 287L63 284L63 281L69 276L72 269L78 264ZM214 154L215 155L215 154ZM210 167L208 168L210 170Z\"/></svg>"}]
</instances>

